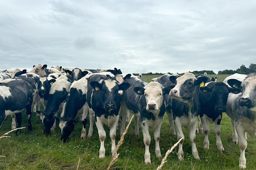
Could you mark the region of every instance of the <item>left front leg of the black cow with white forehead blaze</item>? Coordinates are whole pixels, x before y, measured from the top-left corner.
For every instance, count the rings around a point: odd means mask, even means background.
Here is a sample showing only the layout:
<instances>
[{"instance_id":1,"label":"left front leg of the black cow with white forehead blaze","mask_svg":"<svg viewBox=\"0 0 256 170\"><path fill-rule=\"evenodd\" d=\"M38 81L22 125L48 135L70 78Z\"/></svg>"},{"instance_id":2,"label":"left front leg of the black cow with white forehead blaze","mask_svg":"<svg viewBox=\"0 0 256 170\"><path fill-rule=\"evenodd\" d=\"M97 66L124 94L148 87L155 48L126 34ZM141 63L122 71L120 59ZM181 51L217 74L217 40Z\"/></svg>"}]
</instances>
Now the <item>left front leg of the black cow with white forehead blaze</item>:
<instances>
[{"instance_id":1,"label":"left front leg of the black cow with white forehead blaze","mask_svg":"<svg viewBox=\"0 0 256 170\"><path fill-rule=\"evenodd\" d=\"M100 118L97 118L96 126L98 129L99 137L100 137L100 155L99 158L105 158L105 147L104 147L104 141L106 138L106 131L103 128L103 122L100 120ZM115 127L116 128L116 127Z\"/></svg>"}]
</instances>

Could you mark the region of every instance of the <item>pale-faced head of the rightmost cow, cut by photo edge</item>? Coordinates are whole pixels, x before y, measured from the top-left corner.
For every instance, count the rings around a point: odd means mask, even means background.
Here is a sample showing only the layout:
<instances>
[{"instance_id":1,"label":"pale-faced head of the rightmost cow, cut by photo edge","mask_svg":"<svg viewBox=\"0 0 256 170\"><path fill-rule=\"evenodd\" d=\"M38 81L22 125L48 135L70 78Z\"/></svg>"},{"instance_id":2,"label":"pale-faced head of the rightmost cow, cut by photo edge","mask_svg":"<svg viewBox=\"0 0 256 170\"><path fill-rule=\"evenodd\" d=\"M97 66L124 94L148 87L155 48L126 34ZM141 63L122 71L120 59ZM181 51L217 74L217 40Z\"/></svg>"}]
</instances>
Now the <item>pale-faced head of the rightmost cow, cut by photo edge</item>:
<instances>
[{"instance_id":1,"label":"pale-faced head of the rightmost cow, cut by photo edge","mask_svg":"<svg viewBox=\"0 0 256 170\"><path fill-rule=\"evenodd\" d=\"M239 105L256 111L256 73L252 73L245 78L243 82L236 79L229 79L228 84L237 89L241 88L242 96L239 99Z\"/></svg>"}]
</instances>

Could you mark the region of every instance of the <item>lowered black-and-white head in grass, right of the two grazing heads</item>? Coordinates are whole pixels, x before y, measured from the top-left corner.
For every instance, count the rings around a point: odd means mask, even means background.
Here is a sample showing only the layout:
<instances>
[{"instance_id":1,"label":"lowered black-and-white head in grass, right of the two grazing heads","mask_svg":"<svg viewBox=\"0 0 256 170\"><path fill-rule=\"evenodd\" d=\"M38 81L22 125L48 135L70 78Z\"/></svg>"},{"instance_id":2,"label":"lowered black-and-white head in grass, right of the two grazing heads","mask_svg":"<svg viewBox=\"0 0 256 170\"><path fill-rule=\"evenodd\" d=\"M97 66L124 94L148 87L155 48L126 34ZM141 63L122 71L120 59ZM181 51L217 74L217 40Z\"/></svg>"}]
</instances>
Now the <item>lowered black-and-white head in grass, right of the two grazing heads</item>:
<instances>
[{"instance_id":1,"label":"lowered black-and-white head in grass, right of the two grazing heads","mask_svg":"<svg viewBox=\"0 0 256 170\"><path fill-rule=\"evenodd\" d=\"M71 135L72 131L75 128L76 121L69 117L63 116L54 116L56 120L60 121L59 127L61 130L61 137L60 140L63 142L67 142L68 137Z\"/></svg>"}]
</instances>

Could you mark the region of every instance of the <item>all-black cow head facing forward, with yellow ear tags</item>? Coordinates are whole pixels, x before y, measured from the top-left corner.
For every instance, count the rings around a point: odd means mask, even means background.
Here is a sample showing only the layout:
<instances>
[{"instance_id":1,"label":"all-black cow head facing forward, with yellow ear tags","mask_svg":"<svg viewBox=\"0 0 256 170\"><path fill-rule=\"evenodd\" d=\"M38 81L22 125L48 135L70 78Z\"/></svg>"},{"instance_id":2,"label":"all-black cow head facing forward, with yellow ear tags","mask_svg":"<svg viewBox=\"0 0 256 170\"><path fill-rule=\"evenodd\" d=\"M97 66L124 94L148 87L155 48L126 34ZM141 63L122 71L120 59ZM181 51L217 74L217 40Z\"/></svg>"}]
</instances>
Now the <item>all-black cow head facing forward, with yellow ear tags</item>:
<instances>
[{"instance_id":1,"label":"all-black cow head facing forward, with yellow ear tags","mask_svg":"<svg viewBox=\"0 0 256 170\"><path fill-rule=\"evenodd\" d=\"M212 102L215 103L215 111L218 113L226 112L228 93L238 93L239 89L228 87L223 82L216 82L213 86L200 87L200 91L209 93Z\"/></svg>"}]
</instances>

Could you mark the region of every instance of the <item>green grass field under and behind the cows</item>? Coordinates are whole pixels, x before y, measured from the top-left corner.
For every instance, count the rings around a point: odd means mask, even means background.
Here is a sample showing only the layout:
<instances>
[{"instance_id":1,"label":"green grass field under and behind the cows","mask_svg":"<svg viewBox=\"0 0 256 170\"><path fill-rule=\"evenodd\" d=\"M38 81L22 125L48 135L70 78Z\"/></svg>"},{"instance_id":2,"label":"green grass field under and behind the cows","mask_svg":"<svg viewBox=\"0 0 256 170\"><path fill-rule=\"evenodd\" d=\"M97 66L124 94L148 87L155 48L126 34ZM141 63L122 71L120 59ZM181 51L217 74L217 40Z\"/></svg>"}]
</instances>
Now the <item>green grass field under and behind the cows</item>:
<instances>
[{"instance_id":1,"label":"green grass field under and behind the cows","mask_svg":"<svg viewBox=\"0 0 256 170\"><path fill-rule=\"evenodd\" d=\"M209 78L214 75L208 75ZM218 81L223 81L228 75L215 75ZM149 82L155 76L143 76L145 81ZM0 140L0 169L76 169L79 159L79 169L106 169L111 159L111 140L109 129L105 126L107 137L105 140L106 158L99 159L100 140L98 131L94 123L93 136L91 138L80 139L82 123L76 119L76 126L72 137L67 143L60 142L60 130L57 122L54 133L46 136L43 134L43 126L39 117L32 113L33 131L28 133L27 129L22 129L20 136L16 137L11 133L11 138ZM22 116L22 126L27 127L27 118L24 112ZM11 130L11 116L3 122L0 135ZM119 121L120 125L120 121ZM127 123L126 123L127 125ZM196 134L196 146L201 161L194 159L191 151L188 129L183 128L185 141L183 143L184 161L180 162L177 158L178 147L168 156L167 162L162 169L239 169L238 162L240 157L239 145L232 144L232 126L226 114L223 114L221 121L221 140L225 149L224 153L217 150L216 136L211 125L209 134L210 149L204 150L204 134ZM86 126L88 132L89 121ZM134 137L134 121L124 137L124 144L119 148L119 159L112 166L112 169L156 169L161 164L161 159L155 156L155 140L153 131L150 130L151 144L149 151L151 153L152 165L144 164L145 145L143 135L140 129L140 136ZM247 169L255 169L256 161L256 142L248 134L248 147L245 152L247 159ZM120 139L119 129L116 134L116 144ZM164 122L160 134L160 148L162 157L165 152L177 142L177 137L172 137L169 129L167 115L164 115Z\"/></svg>"}]
</instances>

